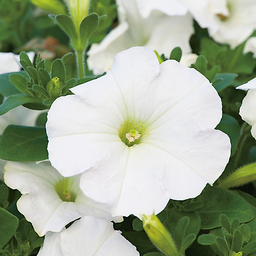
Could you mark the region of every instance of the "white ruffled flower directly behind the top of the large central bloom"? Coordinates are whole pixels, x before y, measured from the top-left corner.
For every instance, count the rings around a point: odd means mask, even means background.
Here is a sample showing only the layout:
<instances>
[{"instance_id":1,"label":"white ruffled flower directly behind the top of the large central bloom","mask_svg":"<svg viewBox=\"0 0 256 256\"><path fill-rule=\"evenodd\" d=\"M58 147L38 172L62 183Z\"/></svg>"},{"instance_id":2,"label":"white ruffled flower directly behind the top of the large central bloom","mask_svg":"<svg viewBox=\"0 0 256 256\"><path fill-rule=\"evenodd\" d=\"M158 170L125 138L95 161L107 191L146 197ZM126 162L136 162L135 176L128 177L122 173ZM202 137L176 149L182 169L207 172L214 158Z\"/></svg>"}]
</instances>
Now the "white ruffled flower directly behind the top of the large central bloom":
<instances>
[{"instance_id":1,"label":"white ruffled flower directly behind the top of the large central bloom","mask_svg":"<svg viewBox=\"0 0 256 256\"><path fill-rule=\"evenodd\" d=\"M120 24L87 52L88 67L94 74L110 70L115 54L132 46L144 46L166 56L170 56L175 47L180 47L184 54L191 52L191 15L169 17L158 13L144 19L135 0L118 0L116 3Z\"/></svg>"}]
</instances>

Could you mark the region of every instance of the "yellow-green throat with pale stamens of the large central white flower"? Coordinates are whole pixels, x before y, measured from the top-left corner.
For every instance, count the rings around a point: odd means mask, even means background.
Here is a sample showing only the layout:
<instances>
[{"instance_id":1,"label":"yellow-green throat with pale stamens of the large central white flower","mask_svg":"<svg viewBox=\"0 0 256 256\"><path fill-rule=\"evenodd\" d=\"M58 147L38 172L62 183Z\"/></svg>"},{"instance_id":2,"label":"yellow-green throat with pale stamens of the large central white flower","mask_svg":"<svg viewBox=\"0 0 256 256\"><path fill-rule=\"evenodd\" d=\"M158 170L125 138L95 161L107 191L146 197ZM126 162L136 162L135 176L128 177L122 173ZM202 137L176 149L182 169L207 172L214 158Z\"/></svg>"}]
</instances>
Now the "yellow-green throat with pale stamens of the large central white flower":
<instances>
[{"instance_id":1,"label":"yellow-green throat with pale stamens of the large central white flower","mask_svg":"<svg viewBox=\"0 0 256 256\"><path fill-rule=\"evenodd\" d=\"M124 122L119 129L119 137L128 147L134 144L140 144L141 135L143 136L145 134L146 126L140 121Z\"/></svg>"}]
</instances>

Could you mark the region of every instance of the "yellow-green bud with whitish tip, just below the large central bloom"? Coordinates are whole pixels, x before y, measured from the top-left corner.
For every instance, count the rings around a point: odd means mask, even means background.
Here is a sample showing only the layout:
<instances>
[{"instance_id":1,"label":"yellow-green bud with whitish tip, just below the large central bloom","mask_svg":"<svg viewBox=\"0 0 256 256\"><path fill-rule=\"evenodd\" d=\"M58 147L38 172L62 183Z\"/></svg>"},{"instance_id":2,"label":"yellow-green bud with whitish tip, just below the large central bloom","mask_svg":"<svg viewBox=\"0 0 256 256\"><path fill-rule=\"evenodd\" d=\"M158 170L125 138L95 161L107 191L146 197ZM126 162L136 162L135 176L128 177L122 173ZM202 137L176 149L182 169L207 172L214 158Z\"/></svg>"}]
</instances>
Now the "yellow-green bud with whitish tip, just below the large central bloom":
<instances>
[{"instance_id":1,"label":"yellow-green bud with whitish tip, just below the large central bloom","mask_svg":"<svg viewBox=\"0 0 256 256\"><path fill-rule=\"evenodd\" d=\"M143 228L148 238L167 256L179 256L179 252L172 240L171 235L164 227L163 223L153 213L152 215L142 215Z\"/></svg>"}]
</instances>

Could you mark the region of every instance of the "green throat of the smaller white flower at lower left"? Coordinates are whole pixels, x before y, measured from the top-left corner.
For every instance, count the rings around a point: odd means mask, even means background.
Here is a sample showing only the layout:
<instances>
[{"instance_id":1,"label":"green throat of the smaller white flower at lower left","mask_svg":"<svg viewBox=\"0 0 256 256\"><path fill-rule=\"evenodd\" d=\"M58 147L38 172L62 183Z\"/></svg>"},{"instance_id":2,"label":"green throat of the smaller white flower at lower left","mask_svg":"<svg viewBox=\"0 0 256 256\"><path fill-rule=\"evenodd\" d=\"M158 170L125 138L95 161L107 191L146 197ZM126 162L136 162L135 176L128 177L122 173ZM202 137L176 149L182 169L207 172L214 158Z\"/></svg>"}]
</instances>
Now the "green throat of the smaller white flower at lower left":
<instances>
[{"instance_id":1,"label":"green throat of the smaller white flower at lower left","mask_svg":"<svg viewBox=\"0 0 256 256\"><path fill-rule=\"evenodd\" d=\"M55 191L63 202L75 202L76 193L72 187L72 177L63 178L54 185Z\"/></svg>"}]
</instances>

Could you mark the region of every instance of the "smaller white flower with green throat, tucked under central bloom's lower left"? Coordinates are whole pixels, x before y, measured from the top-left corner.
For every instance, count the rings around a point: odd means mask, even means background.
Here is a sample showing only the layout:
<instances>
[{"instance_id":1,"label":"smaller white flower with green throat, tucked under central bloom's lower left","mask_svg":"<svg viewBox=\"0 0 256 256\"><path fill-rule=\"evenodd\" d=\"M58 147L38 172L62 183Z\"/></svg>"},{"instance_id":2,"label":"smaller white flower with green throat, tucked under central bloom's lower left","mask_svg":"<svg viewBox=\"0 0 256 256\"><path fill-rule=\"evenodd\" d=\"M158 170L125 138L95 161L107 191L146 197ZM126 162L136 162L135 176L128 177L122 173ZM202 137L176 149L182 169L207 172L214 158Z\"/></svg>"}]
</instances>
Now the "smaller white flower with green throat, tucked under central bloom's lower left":
<instances>
[{"instance_id":1,"label":"smaller white flower with green throat, tucked under central bloom's lower left","mask_svg":"<svg viewBox=\"0 0 256 256\"><path fill-rule=\"evenodd\" d=\"M108 205L84 196L79 188L81 175L63 177L49 162L7 162L4 182L23 195L17 208L33 224L39 236L47 231L59 232L70 221L84 215L122 221L112 218Z\"/></svg>"}]
</instances>

